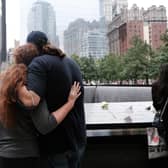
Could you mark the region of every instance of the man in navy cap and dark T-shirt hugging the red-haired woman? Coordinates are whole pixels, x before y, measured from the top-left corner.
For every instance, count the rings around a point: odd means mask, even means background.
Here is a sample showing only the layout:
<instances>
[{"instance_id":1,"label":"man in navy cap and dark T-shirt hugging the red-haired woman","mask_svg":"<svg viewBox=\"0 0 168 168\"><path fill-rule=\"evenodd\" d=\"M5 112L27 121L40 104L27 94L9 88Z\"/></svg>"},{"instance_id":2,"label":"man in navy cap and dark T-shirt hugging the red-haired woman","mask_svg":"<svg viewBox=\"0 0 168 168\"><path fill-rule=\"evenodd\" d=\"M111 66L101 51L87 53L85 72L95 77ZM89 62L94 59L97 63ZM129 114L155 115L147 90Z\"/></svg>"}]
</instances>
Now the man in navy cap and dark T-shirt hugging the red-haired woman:
<instances>
[{"instance_id":1,"label":"man in navy cap and dark T-shirt hugging the red-haired woman","mask_svg":"<svg viewBox=\"0 0 168 168\"><path fill-rule=\"evenodd\" d=\"M41 53L29 65L27 76L27 87L33 92L36 105L45 98L49 111L56 110L67 101L73 82L80 82L82 94L72 111L53 132L40 138L42 153L47 156L51 167L79 168L86 145L84 87L80 69L69 57L43 55L43 46L48 43L43 32L31 32L27 42L34 43ZM31 101L22 90L19 97L25 105Z\"/></svg>"}]
</instances>

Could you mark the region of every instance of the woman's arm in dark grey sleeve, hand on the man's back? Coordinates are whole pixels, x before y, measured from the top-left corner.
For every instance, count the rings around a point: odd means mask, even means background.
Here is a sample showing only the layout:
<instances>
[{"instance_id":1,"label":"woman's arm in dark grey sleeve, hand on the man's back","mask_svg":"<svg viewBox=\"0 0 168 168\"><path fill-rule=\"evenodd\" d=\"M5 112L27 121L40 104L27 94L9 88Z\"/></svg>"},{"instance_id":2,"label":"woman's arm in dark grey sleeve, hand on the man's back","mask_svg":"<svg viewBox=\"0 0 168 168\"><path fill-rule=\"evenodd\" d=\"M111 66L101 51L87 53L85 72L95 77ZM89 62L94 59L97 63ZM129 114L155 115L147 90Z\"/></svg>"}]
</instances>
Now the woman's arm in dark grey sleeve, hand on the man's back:
<instances>
[{"instance_id":1,"label":"woman's arm in dark grey sleeve, hand on the man's back","mask_svg":"<svg viewBox=\"0 0 168 168\"><path fill-rule=\"evenodd\" d=\"M71 111L80 94L79 83L74 82L67 103L52 113L49 112L46 101L42 100L38 108L31 112L31 117L37 130L43 135L53 131Z\"/></svg>"}]
</instances>

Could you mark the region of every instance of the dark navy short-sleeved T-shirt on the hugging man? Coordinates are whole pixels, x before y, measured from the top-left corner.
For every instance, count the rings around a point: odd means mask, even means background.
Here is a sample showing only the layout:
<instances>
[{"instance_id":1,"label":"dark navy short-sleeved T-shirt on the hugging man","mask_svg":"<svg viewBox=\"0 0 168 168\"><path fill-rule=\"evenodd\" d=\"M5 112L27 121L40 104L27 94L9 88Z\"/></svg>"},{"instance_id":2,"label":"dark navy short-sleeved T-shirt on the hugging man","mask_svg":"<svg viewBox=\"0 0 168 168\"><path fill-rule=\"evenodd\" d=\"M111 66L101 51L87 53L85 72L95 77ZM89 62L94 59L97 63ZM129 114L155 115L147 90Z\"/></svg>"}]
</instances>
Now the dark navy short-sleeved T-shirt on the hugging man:
<instances>
[{"instance_id":1,"label":"dark navy short-sleeved T-shirt on the hugging man","mask_svg":"<svg viewBox=\"0 0 168 168\"><path fill-rule=\"evenodd\" d=\"M28 89L46 99L50 112L67 102L74 81L80 82L82 94L64 121L41 138L41 149L46 154L75 151L86 143L82 76L78 65L68 57L43 55L33 59L28 67Z\"/></svg>"}]
</instances>

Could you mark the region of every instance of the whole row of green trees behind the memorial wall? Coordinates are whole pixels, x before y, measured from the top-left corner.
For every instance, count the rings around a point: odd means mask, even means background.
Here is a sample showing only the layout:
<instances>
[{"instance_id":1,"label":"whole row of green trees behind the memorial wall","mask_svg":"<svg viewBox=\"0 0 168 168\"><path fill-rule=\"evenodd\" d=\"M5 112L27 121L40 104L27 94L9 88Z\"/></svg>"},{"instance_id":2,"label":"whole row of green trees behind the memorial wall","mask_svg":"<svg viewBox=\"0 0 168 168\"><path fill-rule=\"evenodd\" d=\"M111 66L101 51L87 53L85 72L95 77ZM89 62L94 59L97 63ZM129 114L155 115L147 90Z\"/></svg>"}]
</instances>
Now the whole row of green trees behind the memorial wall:
<instances>
[{"instance_id":1,"label":"whole row of green trees behind the memorial wall","mask_svg":"<svg viewBox=\"0 0 168 168\"><path fill-rule=\"evenodd\" d=\"M153 50L135 36L132 47L124 55L109 54L100 59L73 55L72 58L79 64L86 82L122 84L123 81L132 81L138 84L143 80L149 84L149 79L157 78L160 65L168 62L168 31L161 39L163 45L158 50Z\"/></svg>"}]
</instances>

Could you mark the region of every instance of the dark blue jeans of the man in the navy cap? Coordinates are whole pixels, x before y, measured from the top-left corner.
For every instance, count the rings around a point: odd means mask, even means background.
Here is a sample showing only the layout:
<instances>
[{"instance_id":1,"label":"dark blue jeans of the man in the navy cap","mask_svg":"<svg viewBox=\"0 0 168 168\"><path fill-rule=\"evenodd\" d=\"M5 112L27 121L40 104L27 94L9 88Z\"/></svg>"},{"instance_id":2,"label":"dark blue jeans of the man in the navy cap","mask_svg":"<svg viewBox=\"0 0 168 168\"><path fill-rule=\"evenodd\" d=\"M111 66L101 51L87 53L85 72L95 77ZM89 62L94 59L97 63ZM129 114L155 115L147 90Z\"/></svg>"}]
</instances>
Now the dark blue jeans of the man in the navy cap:
<instances>
[{"instance_id":1,"label":"dark blue jeans of the man in the navy cap","mask_svg":"<svg viewBox=\"0 0 168 168\"><path fill-rule=\"evenodd\" d=\"M77 152L66 151L48 157L50 168L80 168L85 147L79 148Z\"/></svg>"}]
</instances>

